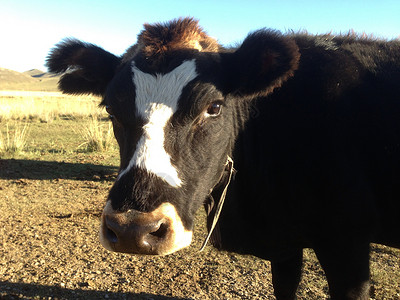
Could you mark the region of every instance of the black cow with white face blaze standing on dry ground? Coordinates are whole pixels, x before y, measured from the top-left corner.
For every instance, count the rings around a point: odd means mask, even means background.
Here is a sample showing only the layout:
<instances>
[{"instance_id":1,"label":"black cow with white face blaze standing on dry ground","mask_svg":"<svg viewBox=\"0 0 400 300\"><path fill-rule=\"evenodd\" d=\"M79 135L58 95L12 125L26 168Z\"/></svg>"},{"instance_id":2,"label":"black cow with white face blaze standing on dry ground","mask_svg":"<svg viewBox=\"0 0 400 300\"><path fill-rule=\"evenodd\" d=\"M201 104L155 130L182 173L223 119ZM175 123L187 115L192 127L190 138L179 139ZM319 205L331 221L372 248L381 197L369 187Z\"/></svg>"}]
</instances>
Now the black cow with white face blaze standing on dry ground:
<instances>
[{"instance_id":1,"label":"black cow with white face blaze standing on dry ground","mask_svg":"<svg viewBox=\"0 0 400 300\"><path fill-rule=\"evenodd\" d=\"M193 19L145 25L122 57L65 40L60 89L103 97L121 166L102 215L111 250L169 254L210 219L214 244L271 260L293 299L302 249L333 299L368 299L369 244L400 247L400 42L250 34L224 49Z\"/></svg>"}]
</instances>

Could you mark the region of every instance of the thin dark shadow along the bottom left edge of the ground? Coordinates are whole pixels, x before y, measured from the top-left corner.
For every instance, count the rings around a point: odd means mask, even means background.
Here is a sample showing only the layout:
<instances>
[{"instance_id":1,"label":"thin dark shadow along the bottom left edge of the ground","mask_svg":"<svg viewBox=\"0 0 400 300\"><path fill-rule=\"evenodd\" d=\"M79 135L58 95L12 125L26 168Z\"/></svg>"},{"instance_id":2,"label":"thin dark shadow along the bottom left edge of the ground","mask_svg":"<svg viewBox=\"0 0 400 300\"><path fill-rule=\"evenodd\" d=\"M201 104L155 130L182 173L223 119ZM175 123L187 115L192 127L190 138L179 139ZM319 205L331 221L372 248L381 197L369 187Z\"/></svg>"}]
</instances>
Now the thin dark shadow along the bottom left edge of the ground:
<instances>
[{"instance_id":1,"label":"thin dark shadow along the bottom left edge of the ground","mask_svg":"<svg viewBox=\"0 0 400 300\"><path fill-rule=\"evenodd\" d=\"M138 299L138 300L185 300L187 298L175 298L158 296L147 293L120 293L107 291L91 291L84 289L67 289L57 286L36 285L30 283L13 283L0 281L1 299Z\"/></svg>"}]
</instances>

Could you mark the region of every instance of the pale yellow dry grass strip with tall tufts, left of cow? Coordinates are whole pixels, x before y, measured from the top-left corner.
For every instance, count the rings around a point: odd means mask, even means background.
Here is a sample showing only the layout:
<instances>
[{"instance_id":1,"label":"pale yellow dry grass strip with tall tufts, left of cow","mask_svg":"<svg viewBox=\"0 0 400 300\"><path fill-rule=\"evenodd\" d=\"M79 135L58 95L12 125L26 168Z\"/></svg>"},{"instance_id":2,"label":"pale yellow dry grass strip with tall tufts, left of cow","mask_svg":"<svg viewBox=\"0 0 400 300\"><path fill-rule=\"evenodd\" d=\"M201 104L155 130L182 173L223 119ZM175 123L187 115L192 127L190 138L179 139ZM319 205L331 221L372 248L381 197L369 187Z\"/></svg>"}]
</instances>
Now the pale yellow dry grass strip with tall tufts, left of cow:
<instances>
[{"instance_id":1,"label":"pale yellow dry grass strip with tall tufts, left of cow","mask_svg":"<svg viewBox=\"0 0 400 300\"><path fill-rule=\"evenodd\" d=\"M85 120L75 129L84 142L76 149L103 152L114 141L112 126L102 122L106 113L94 96L70 96L59 92L0 91L0 154L13 155L24 150L31 122L51 123L57 119ZM87 120L87 122L86 122ZM8 124L14 124L9 127Z\"/></svg>"}]
</instances>

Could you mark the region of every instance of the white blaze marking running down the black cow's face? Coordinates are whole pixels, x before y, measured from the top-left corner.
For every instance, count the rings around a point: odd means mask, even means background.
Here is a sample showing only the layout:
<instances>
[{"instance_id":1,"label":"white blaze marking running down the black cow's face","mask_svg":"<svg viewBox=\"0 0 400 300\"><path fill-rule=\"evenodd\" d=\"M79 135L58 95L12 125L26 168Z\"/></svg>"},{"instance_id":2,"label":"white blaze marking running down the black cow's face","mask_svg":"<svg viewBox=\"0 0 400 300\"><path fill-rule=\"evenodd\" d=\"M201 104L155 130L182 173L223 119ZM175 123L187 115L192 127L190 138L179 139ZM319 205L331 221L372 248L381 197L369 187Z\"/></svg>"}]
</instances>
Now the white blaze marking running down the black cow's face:
<instances>
[{"instance_id":1,"label":"white blaze marking running down the black cow's face","mask_svg":"<svg viewBox=\"0 0 400 300\"><path fill-rule=\"evenodd\" d=\"M185 61L171 72L155 76L140 71L132 62L132 73L136 109L145 120L144 133L128 167L118 179L136 166L157 175L171 186L179 187L182 180L164 148L164 129L176 112L183 88L197 77L195 61Z\"/></svg>"}]
</instances>

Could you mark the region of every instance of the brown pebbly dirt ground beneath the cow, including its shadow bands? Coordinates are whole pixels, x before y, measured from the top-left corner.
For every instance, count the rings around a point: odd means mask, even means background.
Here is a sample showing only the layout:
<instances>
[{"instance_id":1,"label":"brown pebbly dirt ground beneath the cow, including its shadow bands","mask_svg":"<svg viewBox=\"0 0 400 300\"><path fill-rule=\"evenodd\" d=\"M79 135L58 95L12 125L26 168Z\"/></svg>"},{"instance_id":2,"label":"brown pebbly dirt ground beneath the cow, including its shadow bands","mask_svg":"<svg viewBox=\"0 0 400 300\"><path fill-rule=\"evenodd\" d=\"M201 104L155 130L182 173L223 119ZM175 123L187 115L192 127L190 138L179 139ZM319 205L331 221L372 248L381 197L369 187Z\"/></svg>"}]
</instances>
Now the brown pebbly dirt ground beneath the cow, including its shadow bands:
<instances>
[{"instance_id":1,"label":"brown pebbly dirt ground beneath the cow, including its shadow bands","mask_svg":"<svg viewBox=\"0 0 400 300\"><path fill-rule=\"evenodd\" d=\"M73 161L0 160L1 299L274 299L270 263L191 247L165 257L111 253L98 241L116 176L101 155ZM315 255L305 251L299 299L326 299ZM373 246L371 299L400 299L400 251Z\"/></svg>"}]
</instances>

